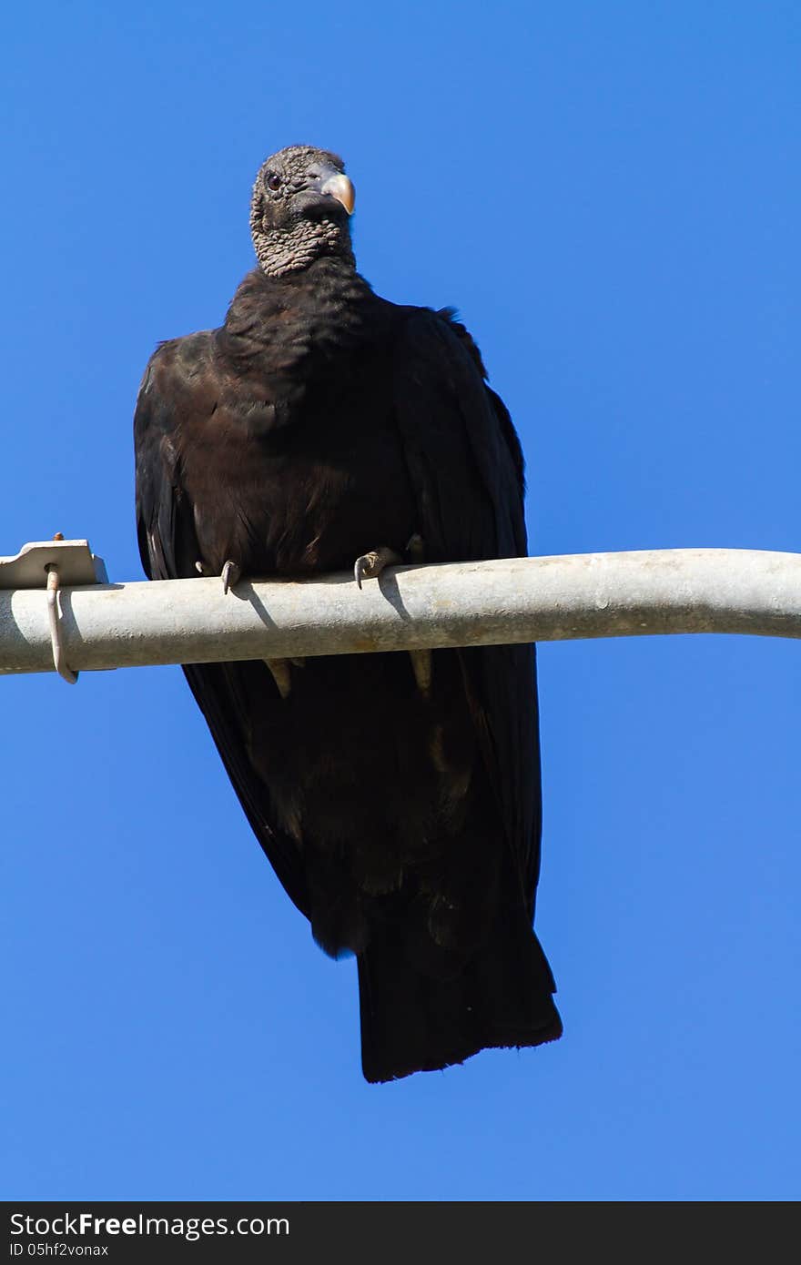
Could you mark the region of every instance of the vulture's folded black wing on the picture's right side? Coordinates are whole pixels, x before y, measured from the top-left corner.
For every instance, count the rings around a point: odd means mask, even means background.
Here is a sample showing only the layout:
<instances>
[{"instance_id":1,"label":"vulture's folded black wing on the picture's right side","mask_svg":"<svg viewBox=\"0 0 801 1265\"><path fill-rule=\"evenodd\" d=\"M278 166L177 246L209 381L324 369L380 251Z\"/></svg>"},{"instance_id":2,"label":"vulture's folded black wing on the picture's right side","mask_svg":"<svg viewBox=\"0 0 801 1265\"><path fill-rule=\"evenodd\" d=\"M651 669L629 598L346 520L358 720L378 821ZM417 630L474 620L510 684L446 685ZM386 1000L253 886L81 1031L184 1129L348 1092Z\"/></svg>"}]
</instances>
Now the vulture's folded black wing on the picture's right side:
<instances>
[{"instance_id":1,"label":"vulture's folded black wing on the picture's right side","mask_svg":"<svg viewBox=\"0 0 801 1265\"><path fill-rule=\"evenodd\" d=\"M430 562L525 557L523 454L449 312L410 316L395 358L395 407ZM533 645L458 651L490 783L525 903L539 873L542 791Z\"/></svg>"}]
</instances>

